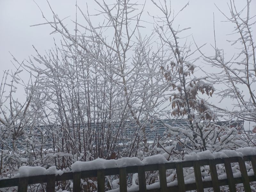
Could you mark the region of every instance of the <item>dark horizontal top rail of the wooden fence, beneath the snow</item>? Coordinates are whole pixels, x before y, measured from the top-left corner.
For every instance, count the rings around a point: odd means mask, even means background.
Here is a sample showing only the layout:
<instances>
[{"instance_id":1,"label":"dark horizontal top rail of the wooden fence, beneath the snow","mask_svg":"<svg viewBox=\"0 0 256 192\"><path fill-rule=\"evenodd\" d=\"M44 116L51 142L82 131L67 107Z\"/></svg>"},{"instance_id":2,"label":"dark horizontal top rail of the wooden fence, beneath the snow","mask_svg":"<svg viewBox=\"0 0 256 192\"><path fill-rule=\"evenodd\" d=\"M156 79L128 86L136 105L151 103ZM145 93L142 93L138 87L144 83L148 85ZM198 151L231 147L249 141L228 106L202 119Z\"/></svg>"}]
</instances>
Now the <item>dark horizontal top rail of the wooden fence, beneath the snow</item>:
<instances>
[{"instance_id":1,"label":"dark horizontal top rail of the wooden fence, beneath the snow","mask_svg":"<svg viewBox=\"0 0 256 192\"><path fill-rule=\"evenodd\" d=\"M251 161L251 155L250 156L243 156L244 161ZM256 157L253 155L253 157ZM226 158L215 158L215 159L202 159L202 160L188 160L188 161L173 161L173 162L166 162L164 163L166 169L175 169L176 164L181 164L183 168L186 167L193 167L194 162L198 162L200 166L209 165L209 160L214 162L214 164L224 164L224 159L228 159L230 163L238 162L238 159L241 158L241 156L233 156L233 157L226 157ZM107 160L111 161L111 160ZM147 171L156 171L159 168L160 163L155 164L144 164L144 165L133 165L133 166L124 166L126 167L126 173L137 173L138 167L143 166L144 170ZM105 176L108 175L118 175L119 169L122 167L114 167L114 168L105 168L104 173ZM78 171L81 173L81 178L90 178L90 177L97 177L97 171L102 169L94 169L94 170L85 170L85 171ZM34 175L34 176L26 176L28 178L28 185L30 184L36 184L36 183L46 183L49 175L55 176L55 181L62 181L62 180L72 180L73 175L77 172L64 172L60 175L58 174L41 174L41 175ZM24 178L22 177L16 177L16 178L9 178L9 179L2 179L0 180L0 188L5 187L13 187L18 186L19 179Z\"/></svg>"}]
</instances>

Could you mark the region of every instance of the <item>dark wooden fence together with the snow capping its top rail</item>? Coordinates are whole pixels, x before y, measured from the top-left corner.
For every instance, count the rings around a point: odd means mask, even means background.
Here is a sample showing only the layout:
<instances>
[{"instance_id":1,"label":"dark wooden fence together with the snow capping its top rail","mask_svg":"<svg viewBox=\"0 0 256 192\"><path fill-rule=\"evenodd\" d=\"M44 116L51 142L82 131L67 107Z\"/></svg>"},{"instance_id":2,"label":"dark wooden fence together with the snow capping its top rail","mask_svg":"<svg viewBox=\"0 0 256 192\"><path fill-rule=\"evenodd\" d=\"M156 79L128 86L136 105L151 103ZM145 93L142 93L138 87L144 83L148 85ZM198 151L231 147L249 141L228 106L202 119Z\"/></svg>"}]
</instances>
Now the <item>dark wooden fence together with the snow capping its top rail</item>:
<instances>
[{"instance_id":1,"label":"dark wooden fence together with the snow capping its top rail","mask_svg":"<svg viewBox=\"0 0 256 192\"><path fill-rule=\"evenodd\" d=\"M0 188L18 186L18 192L28 190L28 185L46 183L46 191L55 191L56 181L73 180L73 191L81 191L81 179L96 178L98 192L105 191L105 176L119 175L119 188L114 191L179 191L188 190L204 191L204 188L213 188L220 192L220 186L228 185L230 191L236 191L236 184L243 183L244 191L251 191L250 182L256 181L256 149L240 148L236 151L224 150L218 153L204 151L191 153L185 156L184 161L167 161L164 156L156 155L140 161L136 157L121 158L118 160L96 159L91 162L75 162L71 165L72 172L62 172L55 167L44 169L42 167L22 166L18 174L11 179L0 180ZM252 170L247 172L245 162L251 162ZM232 163L238 163L240 172L234 174ZM226 175L218 177L216 165L224 164ZM201 166L209 166L211 176L202 179ZM183 169L193 167L195 179L184 180ZM167 183L166 170L176 169L177 180ZM159 182L146 185L145 172L158 171ZM139 185L127 189L127 174L138 173ZM40 175L39 175L40 174Z\"/></svg>"}]
</instances>

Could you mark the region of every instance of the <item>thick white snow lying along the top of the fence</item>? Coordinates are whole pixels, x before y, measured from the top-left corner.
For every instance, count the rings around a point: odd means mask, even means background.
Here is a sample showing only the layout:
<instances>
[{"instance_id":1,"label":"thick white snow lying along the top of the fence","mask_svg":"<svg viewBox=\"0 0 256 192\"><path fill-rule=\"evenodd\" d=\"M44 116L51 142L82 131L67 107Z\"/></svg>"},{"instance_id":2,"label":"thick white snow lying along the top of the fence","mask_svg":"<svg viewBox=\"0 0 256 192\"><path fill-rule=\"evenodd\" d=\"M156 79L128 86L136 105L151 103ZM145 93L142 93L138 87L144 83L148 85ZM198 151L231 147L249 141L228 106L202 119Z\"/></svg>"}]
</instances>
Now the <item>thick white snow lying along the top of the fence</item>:
<instances>
[{"instance_id":1,"label":"thick white snow lying along the top of the fence","mask_svg":"<svg viewBox=\"0 0 256 192\"><path fill-rule=\"evenodd\" d=\"M220 152L213 152L206 150L203 152L192 152L189 155L184 156L185 161L202 160L202 159L215 159L215 158L225 158L225 157L243 157L248 155L256 155L256 148L245 147L238 148L236 150L223 150ZM175 160L167 161L163 155L154 155L144 158L142 161L137 157L123 157L120 159L95 159L93 161L76 161L71 165L72 172L80 172L95 169L107 169L107 168L119 168L126 166L139 166L147 164L163 164L168 162L176 162ZM63 172L57 170L55 166L45 169L44 167L30 167L21 166L18 173L14 177L28 177L36 175L61 175Z\"/></svg>"}]
</instances>

